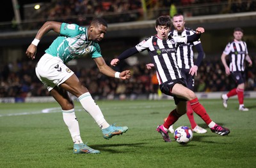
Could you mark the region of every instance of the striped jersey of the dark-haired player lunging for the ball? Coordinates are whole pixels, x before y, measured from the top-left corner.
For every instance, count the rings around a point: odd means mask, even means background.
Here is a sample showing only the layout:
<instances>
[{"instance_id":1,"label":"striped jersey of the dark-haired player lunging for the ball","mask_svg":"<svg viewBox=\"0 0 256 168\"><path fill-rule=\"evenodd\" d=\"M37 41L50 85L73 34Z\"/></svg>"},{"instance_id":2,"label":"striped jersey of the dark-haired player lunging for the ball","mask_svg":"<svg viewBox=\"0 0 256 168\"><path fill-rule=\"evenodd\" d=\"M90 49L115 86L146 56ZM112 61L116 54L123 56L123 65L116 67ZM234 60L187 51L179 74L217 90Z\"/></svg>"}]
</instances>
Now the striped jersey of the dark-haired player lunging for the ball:
<instances>
[{"instance_id":1,"label":"striped jersey of the dark-haired player lunging for the ball","mask_svg":"<svg viewBox=\"0 0 256 168\"><path fill-rule=\"evenodd\" d=\"M169 36L167 40L162 40L157 36L151 36L136 45L139 52L148 50L156 67L159 85L168 80L182 78L175 55L177 43L187 43L187 37Z\"/></svg>"}]
</instances>

